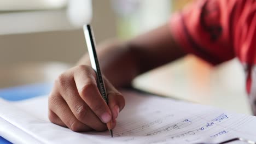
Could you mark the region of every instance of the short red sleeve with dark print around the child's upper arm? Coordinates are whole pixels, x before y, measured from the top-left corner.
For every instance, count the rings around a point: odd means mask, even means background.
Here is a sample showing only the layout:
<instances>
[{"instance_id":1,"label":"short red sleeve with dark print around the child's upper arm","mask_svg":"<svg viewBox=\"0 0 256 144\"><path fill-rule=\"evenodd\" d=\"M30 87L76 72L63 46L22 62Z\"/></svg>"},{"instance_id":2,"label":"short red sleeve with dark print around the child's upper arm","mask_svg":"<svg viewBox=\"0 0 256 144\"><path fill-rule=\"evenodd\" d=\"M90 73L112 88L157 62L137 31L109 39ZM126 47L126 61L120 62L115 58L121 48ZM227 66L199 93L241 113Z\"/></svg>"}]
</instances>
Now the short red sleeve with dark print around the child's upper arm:
<instances>
[{"instance_id":1,"label":"short red sleeve with dark print around the child's upper arm","mask_svg":"<svg viewBox=\"0 0 256 144\"><path fill-rule=\"evenodd\" d=\"M201 0L173 14L174 39L188 52L214 65L235 57L232 13L235 1Z\"/></svg>"}]
</instances>

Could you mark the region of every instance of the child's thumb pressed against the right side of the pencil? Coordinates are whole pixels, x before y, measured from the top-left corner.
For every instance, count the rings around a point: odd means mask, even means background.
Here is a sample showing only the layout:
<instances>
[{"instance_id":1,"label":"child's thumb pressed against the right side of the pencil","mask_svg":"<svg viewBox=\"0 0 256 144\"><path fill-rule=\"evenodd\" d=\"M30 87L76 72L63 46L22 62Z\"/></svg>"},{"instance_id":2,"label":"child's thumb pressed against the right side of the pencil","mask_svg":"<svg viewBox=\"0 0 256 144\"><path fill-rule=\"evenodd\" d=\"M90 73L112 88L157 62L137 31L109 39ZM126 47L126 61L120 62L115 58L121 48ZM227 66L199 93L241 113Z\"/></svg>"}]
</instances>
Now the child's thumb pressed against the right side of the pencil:
<instances>
[{"instance_id":1,"label":"child's thumb pressed against the right side of the pencil","mask_svg":"<svg viewBox=\"0 0 256 144\"><path fill-rule=\"evenodd\" d=\"M118 117L119 112L124 109L125 99L106 78L104 78L104 82L107 88L108 106L112 112L112 118L115 119Z\"/></svg>"}]
</instances>

